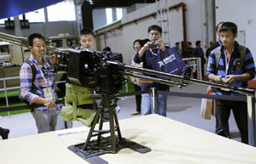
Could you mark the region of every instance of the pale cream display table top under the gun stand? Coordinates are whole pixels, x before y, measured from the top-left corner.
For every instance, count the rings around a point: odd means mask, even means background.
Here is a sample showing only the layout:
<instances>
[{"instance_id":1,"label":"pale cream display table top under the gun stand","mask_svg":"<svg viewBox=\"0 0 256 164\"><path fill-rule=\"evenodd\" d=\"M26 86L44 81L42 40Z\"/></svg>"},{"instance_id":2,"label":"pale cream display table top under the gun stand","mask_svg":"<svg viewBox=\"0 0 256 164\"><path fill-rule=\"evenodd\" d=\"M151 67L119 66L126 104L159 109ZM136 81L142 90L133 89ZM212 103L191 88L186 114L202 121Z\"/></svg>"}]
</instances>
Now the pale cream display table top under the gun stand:
<instances>
[{"instance_id":1,"label":"pale cream display table top under the gun stand","mask_svg":"<svg viewBox=\"0 0 256 164\"><path fill-rule=\"evenodd\" d=\"M143 144L152 151L140 154L125 148L117 154L100 156L110 164L256 163L255 147L163 116L137 116L119 120L119 125L123 138ZM105 126L108 123L104 123ZM83 143L88 132L61 136L51 132L0 141L1 163L88 163L67 149L69 145Z\"/></svg>"}]
</instances>

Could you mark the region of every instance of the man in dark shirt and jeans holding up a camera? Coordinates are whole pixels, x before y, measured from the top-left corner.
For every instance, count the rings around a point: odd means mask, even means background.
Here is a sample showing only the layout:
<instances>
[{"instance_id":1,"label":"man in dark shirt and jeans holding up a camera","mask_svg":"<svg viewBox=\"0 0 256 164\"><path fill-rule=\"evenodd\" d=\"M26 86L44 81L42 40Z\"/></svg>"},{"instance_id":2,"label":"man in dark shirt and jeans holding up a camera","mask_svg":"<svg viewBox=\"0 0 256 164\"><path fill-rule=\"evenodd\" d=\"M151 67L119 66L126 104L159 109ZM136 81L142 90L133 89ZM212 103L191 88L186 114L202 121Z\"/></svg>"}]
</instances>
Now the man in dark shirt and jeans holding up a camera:
<instances>
[{"instance_id":1,"label":"man in dark shirt and jeans holding up a camera","mask_svg":"<svg viewBox=\"0 0 256 164\"><path fill-rule=\"evenodd\" d=\"M157 49L160 47L160 53L166 51L166 47L164 46L163 41L160 39L162 36L162 28L159 25L151 25L148 27L148 37L150 42L144 44L143 48L141 48L137 54L134 56L134 61L136 63L143 62L143 68L152 69L151 62L154 59L154 56L157 55ZM152 48L152 43L157 45L157 47ZM149 88L156 88L157 90L168 91L169 86L165 84L160 84L156 82L142 82L141 86L142 90L147 90ZM155 113L161 116L166 116L166 108L167 108L167 96L164 94L156 95L156 108ZM149 93L144 93L142 95L142 115L148 115L152 113L151 106L151 96Z\"/></svg>"}]
</instances>

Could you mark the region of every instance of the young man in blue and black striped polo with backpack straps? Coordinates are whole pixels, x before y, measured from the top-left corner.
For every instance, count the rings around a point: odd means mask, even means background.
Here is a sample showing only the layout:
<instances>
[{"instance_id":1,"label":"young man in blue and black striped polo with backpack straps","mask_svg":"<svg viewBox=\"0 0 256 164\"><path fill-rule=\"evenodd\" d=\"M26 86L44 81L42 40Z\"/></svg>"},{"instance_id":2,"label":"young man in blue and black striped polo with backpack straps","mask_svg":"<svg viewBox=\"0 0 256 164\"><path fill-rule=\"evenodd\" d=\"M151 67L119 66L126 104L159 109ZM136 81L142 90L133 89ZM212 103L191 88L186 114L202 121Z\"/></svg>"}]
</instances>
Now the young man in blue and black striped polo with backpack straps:
<instances>
[{"instance_id":1,"label":"young man in blue and black striped polo with backpack straps","mask_svg":"<svg viewBox=\"0 0 256 164\"><path fill-rule=\"evenodd\" d=\"M230 86L247 88L247 81L255 76L253 55L248 48L241 58L241 46L235 41L237 26L232 22L225 22L219 29L222 42L218 68L216 68L217 53L212 50L208 59L207 77L212 82ZM214 88L216 95L242 96L241 93L224 91ZM248 144L247 103L244 101L230 101L216 99L216 131L218 135L228 137L226 125L229 122L230 110L236 119L236 125L241 133L241 142Z\"/></svg>"}]
</instances>

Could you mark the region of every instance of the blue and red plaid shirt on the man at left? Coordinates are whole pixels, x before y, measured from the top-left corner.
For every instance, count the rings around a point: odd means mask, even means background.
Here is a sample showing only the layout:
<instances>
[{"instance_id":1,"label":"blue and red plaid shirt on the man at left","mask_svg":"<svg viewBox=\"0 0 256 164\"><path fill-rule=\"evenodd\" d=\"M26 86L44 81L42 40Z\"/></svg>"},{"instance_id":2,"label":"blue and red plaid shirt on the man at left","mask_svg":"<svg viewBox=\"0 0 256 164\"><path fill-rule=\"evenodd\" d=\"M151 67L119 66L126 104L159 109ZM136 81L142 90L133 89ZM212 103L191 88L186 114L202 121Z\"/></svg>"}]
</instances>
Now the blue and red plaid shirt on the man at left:
<instances>
[{"instance_id":1,"label":"blue and red plaid shirt on the man at left","mask_svg":"<svg viewBox=\"0 0 256 164\"><path fill-rule=\"evenodd\" d=\"M53 93L53 99L57 100L58 96L55 87L55 76L53 72L43 71L43 75L38 68L43 68L44 70L52 70L51 65L44 59L44 65L40 65L31 54L29 58L33 64L36 66L37 74L34 79L34 88L32 88L32 68L26 62L20 67L20 91L21 96L27 101L34 103L38 97L44 98L44 88L51 88ZM44 78L47 82L44 81ZM58 105L61 109L61 105ZM39 107L38 110L48 111L47 106Z\"/></svg>"}]
</instances>

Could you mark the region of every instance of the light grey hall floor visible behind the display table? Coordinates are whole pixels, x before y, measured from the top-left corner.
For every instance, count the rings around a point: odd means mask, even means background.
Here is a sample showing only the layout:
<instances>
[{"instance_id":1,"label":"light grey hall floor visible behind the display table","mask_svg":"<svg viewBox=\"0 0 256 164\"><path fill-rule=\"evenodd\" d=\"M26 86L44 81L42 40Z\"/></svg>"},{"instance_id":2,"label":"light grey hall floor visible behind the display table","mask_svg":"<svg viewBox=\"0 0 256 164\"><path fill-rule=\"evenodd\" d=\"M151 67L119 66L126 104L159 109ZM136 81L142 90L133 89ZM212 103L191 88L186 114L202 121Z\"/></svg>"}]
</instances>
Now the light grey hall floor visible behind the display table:
<instances>
[{"instance_id":1,"label":"light grey hall floor visible behind the display table","mask_svg":"<svg viewBox=\"0 0 256 164\"><path fill-rule=\"evenodd\" d=\"M171 92L181 93L206 93L206 90L207 86L198 84L189 84L187 88L171 88ZM201 117L201 99L168 96L167 102L168 118L178 122L183 122L193 127L201 128L210 133L214 133L215 117L212 116L211 120L205 120ZM134 117L131 116L131 113L136 110L135 96L124 97L124 99L118 102L118 105L121 109L118 113L119 120ZM238 133L233 114L230 116L229 123L231 138L240 141L240 134ZM57 129L63 129L63 125L63 120L60 117L58 120ZM80 122L73 122L73 127L80 126L83 126ZM10 129L9 139L37 133L37 127L35 126L35 122L30 113L1 117L0 127Z\"/></svg>"}]
</instances>

